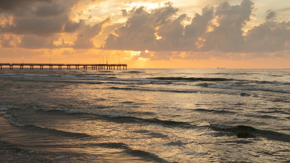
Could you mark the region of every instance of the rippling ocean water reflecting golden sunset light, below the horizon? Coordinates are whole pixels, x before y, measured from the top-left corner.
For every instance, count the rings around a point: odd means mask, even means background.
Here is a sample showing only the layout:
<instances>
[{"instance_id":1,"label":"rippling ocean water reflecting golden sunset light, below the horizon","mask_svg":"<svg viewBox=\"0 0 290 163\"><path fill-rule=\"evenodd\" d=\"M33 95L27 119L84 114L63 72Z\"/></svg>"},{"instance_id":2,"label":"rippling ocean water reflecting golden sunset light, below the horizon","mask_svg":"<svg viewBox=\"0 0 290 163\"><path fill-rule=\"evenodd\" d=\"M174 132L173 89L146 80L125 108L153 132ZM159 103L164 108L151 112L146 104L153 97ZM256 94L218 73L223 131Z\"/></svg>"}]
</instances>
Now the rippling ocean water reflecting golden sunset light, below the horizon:
<instances>
[{"instance_id":1,"label":"rippling ocean water reflecting golden sunset light, below the horizon","mask_svg":"<svg viewBox=\"0 0 290 163\"><path fill-rule=\"evenodd\" d=\"M290 162L290 69L0 70L0 162Z\"/></svg>"}]
</instances>

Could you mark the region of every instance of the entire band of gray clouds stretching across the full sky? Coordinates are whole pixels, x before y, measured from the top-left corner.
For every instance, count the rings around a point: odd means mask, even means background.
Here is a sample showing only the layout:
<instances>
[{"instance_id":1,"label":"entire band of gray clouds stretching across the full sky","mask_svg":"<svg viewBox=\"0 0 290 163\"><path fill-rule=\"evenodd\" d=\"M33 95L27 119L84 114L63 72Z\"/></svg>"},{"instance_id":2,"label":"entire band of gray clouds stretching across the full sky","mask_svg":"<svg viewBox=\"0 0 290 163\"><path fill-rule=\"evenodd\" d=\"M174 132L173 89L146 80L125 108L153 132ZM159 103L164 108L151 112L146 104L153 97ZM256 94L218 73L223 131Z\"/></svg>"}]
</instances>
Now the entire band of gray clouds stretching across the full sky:
<instances>
[{"instance_id":1,"label":"entire band of gray clouds stretching across the full sky","mask_svg":"<svg viewBox=\"0 0 290 163\"><path fill-rule=\"evenodd\" d=\"M0 5L0 46L26 49L65 48L96 49L93 39L101 34L108 17L94 25L86 20L73 21L71 12L80 0L3 0ZM147 11L145 7L121 10L129 17L126 23L112 31L99 49L155 52L166 58L180 57L180 52L191 55L220 55L221 53L276 53L290 50L290 21L274 21L277 12L267 10L265 22L248 31L242 29L250 21L254 3L243 0L240 5L229 2L207 6L193 17L177 15L172 3ZM187 25L184 25L184 22ZM62 34L75 36L73 43L65 43ZM217 52L217 53L214 53ZM156 55L141 53L144 58L158 59ZM280 55L280 53L279 53ZM266 55L265 55L266 56Z\"/></svg>"}]
</instances>

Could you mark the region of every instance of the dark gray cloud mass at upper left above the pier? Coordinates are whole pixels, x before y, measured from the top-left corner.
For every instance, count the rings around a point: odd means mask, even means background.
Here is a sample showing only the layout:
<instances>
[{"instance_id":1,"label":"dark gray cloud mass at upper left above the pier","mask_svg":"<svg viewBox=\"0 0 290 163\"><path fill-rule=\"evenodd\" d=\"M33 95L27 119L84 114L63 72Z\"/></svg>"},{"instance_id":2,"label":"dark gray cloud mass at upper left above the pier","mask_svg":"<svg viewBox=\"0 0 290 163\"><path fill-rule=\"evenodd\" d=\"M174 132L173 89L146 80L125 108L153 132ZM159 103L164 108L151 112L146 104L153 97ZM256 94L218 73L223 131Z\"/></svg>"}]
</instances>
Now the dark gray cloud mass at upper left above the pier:
<instances>
[{"instance_id":1,"label":"dark gray cloud mass at upper left above the pier","mask_svg":"<svg viewBox=\"0 0 290 163\"><path fill-rule=\"evenodd\" d=\"M27 49L95 48L91 39L101 33L103 25L110 19L107 18L94 25L86 24L84 19L74 20L72 12L75 11L77 14L82 11L76 7L80 6L79 3L86 2L79 2L79 0L21 0L14 1L14 3L3 1L6 8L0 7L0 32L3 34L0 45L12 47L10 44L13 38L7 39L7 36L4 35L16 35L21 41L17 45L13 44L14 47ZM74 35L77 37L73 42L65 43L64 38L72 39Z\"/></svg>"}]
</instances>

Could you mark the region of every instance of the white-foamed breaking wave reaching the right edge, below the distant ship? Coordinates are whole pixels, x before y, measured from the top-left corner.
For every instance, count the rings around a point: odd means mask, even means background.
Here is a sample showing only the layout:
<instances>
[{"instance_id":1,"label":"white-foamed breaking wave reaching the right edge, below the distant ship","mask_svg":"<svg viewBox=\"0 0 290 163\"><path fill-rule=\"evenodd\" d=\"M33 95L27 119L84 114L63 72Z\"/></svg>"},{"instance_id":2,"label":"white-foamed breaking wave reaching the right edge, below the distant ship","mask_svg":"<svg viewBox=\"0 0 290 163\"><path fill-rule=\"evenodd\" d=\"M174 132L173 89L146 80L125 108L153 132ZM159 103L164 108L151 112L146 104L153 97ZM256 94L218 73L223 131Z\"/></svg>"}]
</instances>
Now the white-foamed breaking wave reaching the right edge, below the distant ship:
<instances>
[{"instance_id":1,"label":"white-foamed breaking wave reaching the right edge, below the distant ship","mask_svg":"<svg viewBox=\"0 0 290 163\"><path fill-rule=\"evenodd\" d=\"M238 86L229 86L229 85L207 85L209 88L218 88L218 89L236 89L236 90L249 90L249 91L270 91L270 92L280 92L290 94L288 90L276 90L276 89L266 89L266 88L253 88L253 87L238 87Z\"/></svg>"}]
</instances>

